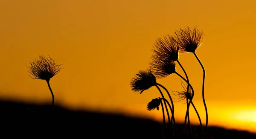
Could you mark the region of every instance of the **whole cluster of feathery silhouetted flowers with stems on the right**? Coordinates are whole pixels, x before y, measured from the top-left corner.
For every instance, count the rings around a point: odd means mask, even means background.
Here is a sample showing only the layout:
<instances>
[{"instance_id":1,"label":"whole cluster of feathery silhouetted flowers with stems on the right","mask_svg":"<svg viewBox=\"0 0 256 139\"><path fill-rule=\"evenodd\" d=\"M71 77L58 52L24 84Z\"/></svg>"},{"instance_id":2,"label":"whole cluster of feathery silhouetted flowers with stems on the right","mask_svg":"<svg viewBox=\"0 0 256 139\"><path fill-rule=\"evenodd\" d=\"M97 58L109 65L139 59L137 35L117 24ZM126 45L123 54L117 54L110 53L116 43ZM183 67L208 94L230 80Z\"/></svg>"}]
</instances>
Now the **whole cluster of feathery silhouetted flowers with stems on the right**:
<instances>
[{"instance_id":1,"label":"whole cluster of feathery silhouetted flowers with stems on the right","mask_svg":"<svg viewBox=\"0 0 256 139\"><path fill-rule=\"evenodd\" d=\"M173 138L175 136L175 131L177 131L177 126L175 122L175 116L174 116L174 104L172 101L172 97L169 93L169 91L161 84L157 83L157 78L166 78L167 76L171 74L176 74L180 78L182 78L183 81L186 82L184 84L181 81L181 85L185 89L185 91L175 91L177 94L172 94L175 96L178 96L180 99L186 99L186 116L185 116L185 133L190 134L191 131L191 125L190 125L190 119L189 119L189 106L192 104L192 107L194 108L195 112L197 113L200 127L201 127L201 137L203 139L207 139L207 126L208 126L208 113L207 113L207 106L204 98L204 82L205 82L205 69L201 61L199 60L198 56L196 55L196 49L201 46L201 44L204 42L205 36L202 30L199 30L197 27L190 28L189 26L186 26L184 29L177 29L173 35L166 35L163 36L163 38L157 38L153 45L153 55L151 56L151 60L149 62L149 67L143 70L140 70L135 77L131 80L131 90L134 92L139 92L140 94L143 93L143 91L148 90L150 87L157 87L157 89L160 92L161 97L152 99L151 102L147 104L147 110L159 110L159 106L162 107L163 112L163 126L164 126L164 136L165 138ZM203 126L201 122L201 118L198 114L198 111L195 107L195 105L192 102L192 99L194 97L194 90L192 85L189 83L188 75L186 74L185 69L182 67L180 61L179 61L179 54L180 53L187 53L191 52L195 56L195 58L198 60L199 64L201 65L203 69L203 82L202 82L202 98L204 102L205 112L206 112L206 125ZM176 62L183 70L186 78L184 78L182 75L180 75L176 71ZM164 97L162 90L160 87L166 91L167 95L169 96L169 101ZM164 109L165 107L165 109ZM168 108L169 107L169 108ZM168 117L168 122L166 122L165 118L165 110ZM171 113L169 113L169 110ZM171 117L170 117L171 114ZM204 128L205 129L204 129Z\"/></svg>"}]
</instances>

